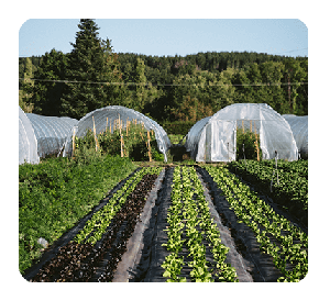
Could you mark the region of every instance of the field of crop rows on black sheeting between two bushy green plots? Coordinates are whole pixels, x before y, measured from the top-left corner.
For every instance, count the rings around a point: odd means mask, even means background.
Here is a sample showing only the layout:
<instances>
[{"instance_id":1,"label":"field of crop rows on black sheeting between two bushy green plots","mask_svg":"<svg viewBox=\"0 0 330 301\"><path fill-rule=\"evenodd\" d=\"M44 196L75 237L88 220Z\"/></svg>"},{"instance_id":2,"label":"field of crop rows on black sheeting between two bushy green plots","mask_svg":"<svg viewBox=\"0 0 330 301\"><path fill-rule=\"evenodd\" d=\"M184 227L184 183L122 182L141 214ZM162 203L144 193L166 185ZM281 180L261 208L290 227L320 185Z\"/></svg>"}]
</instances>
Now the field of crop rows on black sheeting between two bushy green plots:
<instances>
[{"instance_id":1,"label":"field of crop rows on black sheeting between two bushy green plots","mask_svg":"<svg viewBox=\"0 0 330 301\"><path fill-rule=\"evenodd\" d=\"M23 277L37 282L302 280L308 274L304 219L270 201L231 166L201 166L139 167L22 269ZM295 168L293 174L300 172Z\"/></svg>"}]
</instances>

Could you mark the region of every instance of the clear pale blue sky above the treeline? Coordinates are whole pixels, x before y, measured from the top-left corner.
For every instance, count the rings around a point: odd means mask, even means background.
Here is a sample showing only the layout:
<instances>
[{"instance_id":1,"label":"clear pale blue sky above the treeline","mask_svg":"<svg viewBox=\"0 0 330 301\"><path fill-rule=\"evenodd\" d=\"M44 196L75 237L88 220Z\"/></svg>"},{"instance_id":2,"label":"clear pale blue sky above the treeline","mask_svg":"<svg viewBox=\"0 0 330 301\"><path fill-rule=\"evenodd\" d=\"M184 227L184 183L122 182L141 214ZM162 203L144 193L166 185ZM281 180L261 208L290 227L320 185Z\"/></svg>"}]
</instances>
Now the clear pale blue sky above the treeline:
<instances>
[{"instance_id":1,"label":"clear pale blue sky above the treeline","mask_svg":"<svg viewBox=\"0 0 330 301\"><path fill-rule=\"evenodd\" d=\"M299 19L95 19L116 53L186 56L256 52L308 56L308 26ZM19 57L53 48L69 53L79 19L29 19L19 31Z\"/></svg>"}]
</instances>

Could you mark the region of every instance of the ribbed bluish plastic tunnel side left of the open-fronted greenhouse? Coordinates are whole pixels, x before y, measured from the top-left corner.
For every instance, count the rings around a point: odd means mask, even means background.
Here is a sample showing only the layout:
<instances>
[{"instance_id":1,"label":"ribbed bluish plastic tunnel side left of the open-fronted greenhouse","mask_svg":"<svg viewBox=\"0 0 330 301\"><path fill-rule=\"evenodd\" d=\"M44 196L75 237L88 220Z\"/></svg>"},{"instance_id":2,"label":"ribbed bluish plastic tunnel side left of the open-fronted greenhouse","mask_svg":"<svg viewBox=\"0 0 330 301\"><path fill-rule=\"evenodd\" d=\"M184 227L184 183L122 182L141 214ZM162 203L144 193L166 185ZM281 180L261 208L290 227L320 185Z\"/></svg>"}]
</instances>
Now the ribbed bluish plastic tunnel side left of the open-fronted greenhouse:
<instances>
[{"instance_id":1,"label":"ribbed bluish plastic tunnel side left of the open-fronted greenhouse","mask_svg":"<svg viewBox=\"0 0 330 301\"><path fill-rule=\"evenodd\" d=\"M78 123L76 119L43 116L26 113L37 140L37 154L45 157L57 154L69 135L72 127Z\"/></svg>"}]
</instances>

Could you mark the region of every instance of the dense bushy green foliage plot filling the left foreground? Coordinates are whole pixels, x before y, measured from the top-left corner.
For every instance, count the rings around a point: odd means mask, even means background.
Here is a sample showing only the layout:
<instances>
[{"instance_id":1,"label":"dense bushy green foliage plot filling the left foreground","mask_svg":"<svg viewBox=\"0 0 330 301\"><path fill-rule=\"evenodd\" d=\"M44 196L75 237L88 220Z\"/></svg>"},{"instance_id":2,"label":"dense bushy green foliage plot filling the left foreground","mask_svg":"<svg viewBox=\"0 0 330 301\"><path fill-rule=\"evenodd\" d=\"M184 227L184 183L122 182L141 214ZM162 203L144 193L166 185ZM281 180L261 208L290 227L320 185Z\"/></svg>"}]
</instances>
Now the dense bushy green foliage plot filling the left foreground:
<instances>
[{"instance_id":1,"label":"dense bushy green foliage plot filling the left foreground","mask_svg":"<svg viewBox=\"0 0 330 301\"><path fill-rule=\"evenodd\" d=\"M52 244L135 168L130 159L119 156L102 156L88 164L51 158L38 165L20 165L20 272L41 255L38 237Z\"/></svg>"}]
</instances>

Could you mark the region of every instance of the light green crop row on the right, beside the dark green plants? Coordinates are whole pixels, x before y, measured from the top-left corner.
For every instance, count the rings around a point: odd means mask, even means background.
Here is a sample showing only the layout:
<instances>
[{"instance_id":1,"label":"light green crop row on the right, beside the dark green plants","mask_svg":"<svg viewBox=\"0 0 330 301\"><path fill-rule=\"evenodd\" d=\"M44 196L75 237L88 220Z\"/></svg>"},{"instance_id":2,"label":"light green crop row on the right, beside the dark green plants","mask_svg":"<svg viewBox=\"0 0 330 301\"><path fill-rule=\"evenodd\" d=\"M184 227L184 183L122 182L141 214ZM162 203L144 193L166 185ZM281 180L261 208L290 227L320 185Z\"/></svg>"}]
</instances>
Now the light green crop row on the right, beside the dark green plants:
<instances>
[{"instance_id":1,"label":"light green crop row on the right, beside the dark green plants","mask_svg":"<svg viewBox=\"0 0 330 301\"><path fill-rule=\"evenodd\" d=\"M283 274L277 281L297 282L308 274L308 236L288 220L274 212L226 168L207 166L206 169L222 190L239 222L250 226L261 244ZM288 268L288 267L293 268Z\"/></svg>"}]
</instances>

